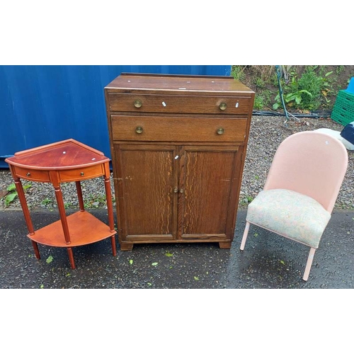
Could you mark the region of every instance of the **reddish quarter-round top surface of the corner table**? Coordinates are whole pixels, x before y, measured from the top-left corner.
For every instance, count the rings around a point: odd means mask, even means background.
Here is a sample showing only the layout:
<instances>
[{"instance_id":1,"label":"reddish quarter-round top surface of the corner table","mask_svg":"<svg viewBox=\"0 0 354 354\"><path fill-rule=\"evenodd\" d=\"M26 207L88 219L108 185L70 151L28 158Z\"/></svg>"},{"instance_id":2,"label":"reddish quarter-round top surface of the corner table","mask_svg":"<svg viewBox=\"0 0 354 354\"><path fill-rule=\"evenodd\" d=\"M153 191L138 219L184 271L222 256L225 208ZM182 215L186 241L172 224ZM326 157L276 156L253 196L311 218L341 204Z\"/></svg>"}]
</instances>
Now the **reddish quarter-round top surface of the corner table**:
<instances>
[{"instance_id":1,"label":"reddish quarter-round top surface of the corner table","mask_svg":"<svg viewBox=\"0 0 354 354\"><path fill-rule=\"evenodd\" d=\"M76 169L103 164L110 159L92 147L74 139L16 152L8 164L38 170Z\"/></svg>"}]
</instances>

